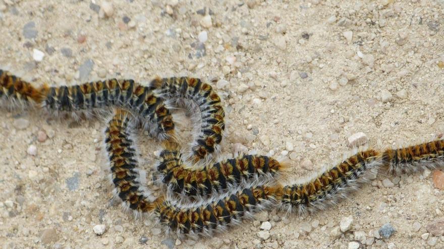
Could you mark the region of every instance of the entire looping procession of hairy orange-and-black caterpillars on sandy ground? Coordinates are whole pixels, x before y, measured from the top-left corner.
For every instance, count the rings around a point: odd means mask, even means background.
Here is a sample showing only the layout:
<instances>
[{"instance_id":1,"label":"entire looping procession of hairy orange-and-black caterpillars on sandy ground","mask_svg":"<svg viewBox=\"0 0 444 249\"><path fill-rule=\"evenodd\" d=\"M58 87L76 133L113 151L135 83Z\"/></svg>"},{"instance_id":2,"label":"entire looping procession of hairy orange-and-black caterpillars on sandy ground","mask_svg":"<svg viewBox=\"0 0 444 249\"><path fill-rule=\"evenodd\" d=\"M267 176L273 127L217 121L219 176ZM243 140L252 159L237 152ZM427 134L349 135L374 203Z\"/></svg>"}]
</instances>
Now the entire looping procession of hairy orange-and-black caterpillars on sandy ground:
<instances>
[{"instance_id":1,"label":"entire looping procession of hairy orange-and-black caterpillars on sandy ground","mask_svg":"<svg viewBox=\"0 0 444 249\"><path fill-rule=\"evenodd\" d=\"M0 101L7 107L70 112L75 118L114 110L104 131L114 195L125 210L154 215L179 236L210 236L271 208L299 215L323 210L384 168L401 174L444 167L444 139L397 149L356 149L338 164L289 185L278 179L288 167L286 160L239 155L214 162L226 130L225 112L211 86L192 77L155 78L146 86L107 79L35 88L0 69ZM175 107L196 117L190 152L182 151L176 137L170 111ZM137 124L161 140L155 183L166 191L153 193L145 186L133 135Z\"/></svg>"}]
</instances>

